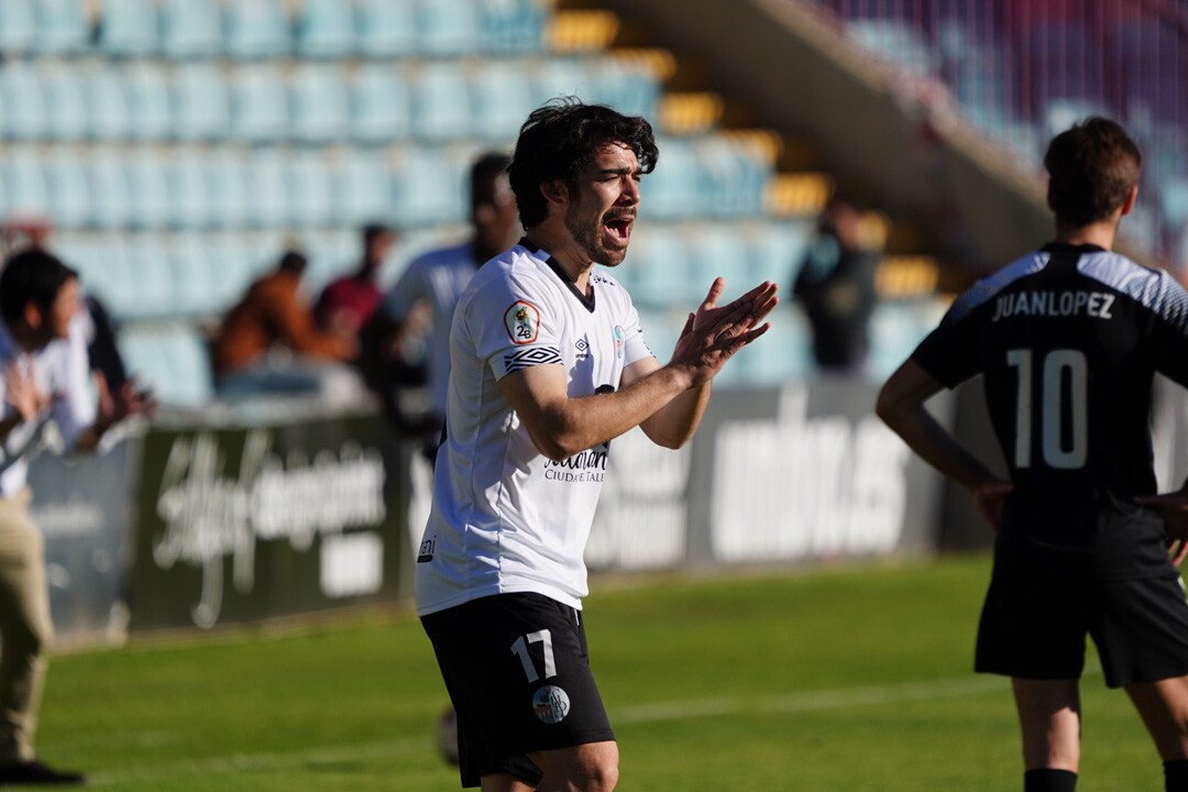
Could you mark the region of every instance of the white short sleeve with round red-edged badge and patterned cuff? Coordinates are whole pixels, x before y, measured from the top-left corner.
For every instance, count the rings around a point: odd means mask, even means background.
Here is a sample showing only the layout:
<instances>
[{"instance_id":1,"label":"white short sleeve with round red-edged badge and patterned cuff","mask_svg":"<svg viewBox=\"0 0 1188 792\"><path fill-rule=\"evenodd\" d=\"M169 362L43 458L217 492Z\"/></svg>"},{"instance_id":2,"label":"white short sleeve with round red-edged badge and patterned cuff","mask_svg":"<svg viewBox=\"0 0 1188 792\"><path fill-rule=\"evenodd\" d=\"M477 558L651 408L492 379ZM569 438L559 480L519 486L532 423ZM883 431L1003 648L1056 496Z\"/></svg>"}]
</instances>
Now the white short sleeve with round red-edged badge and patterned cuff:
<instances>
[{"instance_id":1,"label":"white short sleeve with round red-edged badge and patterned cuff","mask_svg":"<svg viewBox=\"0 0 1188 792\"><path fill-rule=\"evenodd\" d=\"M529 278L503 275L470 292L463 310L475 351L497 380L531 366L562 363L561 317Z\"/></svg>"}]
</instances>

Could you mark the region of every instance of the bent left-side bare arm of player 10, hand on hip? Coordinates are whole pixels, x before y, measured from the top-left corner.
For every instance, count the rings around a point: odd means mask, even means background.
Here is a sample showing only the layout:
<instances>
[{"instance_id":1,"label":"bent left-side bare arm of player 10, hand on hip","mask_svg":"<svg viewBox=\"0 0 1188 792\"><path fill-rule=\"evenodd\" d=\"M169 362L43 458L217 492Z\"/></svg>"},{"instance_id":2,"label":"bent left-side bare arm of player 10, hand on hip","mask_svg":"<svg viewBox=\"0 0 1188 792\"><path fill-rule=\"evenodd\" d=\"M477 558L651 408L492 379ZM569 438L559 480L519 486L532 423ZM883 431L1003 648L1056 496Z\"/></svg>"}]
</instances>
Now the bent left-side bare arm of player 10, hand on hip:
<instances>
[{"instance_id":1,"label":"bent left-side bare arm of player 10, hand on hip","mask_svg":"<svg viewBox=\"0 0 1188 792\"><path fill-rule=\"evenodd\" d=\"M959 444L924 407L942 387L920 363L909 359L879 391L874 410L921 458L966 487L978 509L991 526L997 527L1011 484Z\"/></svg>"}]
</instances>

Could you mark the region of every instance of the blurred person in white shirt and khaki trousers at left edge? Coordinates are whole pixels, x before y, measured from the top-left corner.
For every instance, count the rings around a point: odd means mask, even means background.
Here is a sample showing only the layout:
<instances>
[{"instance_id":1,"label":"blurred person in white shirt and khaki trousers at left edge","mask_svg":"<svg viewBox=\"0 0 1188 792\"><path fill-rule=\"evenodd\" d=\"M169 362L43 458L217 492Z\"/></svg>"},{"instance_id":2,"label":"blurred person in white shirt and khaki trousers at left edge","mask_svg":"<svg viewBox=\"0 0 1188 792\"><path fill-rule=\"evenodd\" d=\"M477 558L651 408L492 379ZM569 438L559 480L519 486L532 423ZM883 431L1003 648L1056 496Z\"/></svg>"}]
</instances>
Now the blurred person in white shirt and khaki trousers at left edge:
<instances>
[{"instance_id":1,"label":"blurred person in white shirt and khaki trousers at left edge","mask_svg":"<svg viewBox=\"0 0 1188 792\"><path fill-rule=\"evenodd\" d=\"M94 449L116 420L147 404L132 384L103 399L89 388L87 341L77 321L77 274L37 248L0 272L0 785L82 784L81 773L37 759L33 733L52 638L44 541L29 514L29 458L61 443Z\"/></svg>"}]
</instances>

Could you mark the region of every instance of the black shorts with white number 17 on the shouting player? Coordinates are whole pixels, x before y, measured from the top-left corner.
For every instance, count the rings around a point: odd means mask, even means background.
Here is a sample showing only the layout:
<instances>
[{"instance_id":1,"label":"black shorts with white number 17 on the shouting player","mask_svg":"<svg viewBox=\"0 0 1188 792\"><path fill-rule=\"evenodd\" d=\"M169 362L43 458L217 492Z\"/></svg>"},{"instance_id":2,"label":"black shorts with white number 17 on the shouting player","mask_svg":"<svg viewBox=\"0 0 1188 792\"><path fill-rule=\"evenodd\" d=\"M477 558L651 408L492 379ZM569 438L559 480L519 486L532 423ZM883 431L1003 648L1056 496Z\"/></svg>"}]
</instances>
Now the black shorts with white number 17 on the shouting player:
<instances>
[{"instance_id":1,"label":"black shorts with white number 17 on the shouting player","mask_svg":"<svg viewBox=\"0 0 1188 792\"><path fill-rule=\"evenodd\" d=\"M580 610L539 594L501 594L421 623L457 711L463 787L494 773L535 786L541 769L526 754L614 740Z\"/></svg>"}]
</instances>

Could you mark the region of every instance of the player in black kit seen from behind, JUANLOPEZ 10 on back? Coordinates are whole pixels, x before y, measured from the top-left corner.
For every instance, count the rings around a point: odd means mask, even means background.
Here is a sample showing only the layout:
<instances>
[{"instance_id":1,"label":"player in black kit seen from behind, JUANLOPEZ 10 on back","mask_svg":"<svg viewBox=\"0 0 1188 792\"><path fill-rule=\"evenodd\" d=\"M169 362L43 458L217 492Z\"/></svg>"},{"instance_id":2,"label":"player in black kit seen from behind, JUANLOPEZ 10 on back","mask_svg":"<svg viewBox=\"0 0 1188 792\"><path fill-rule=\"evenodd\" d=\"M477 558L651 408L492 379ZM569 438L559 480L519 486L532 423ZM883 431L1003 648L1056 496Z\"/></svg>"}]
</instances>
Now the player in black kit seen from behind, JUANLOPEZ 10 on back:
<instances>
[{"instance_id":1,"label":"player in black kit seen from behind, JUANLOPEZ 10 on back","mask_svg":"<svg viewBox=\"0 0 1188 792\"><path fill-rule=\"evenodd\" d=\"M1076 786L1086 634L1106 684L1126 690L1151 733L1165 788L1183 792L1188 604L1176 566L1188 501L1152 498L1149 414L1155 372L1188 386L1188 294L1111 252L1140 167L1120 126L1074 126L1044 166L1055 241L961 294L877 410L997 530L975 667L1012 678L1025 792ZM924 408L975 374L1009 481Z\"/></svg>"}]
</instances>

